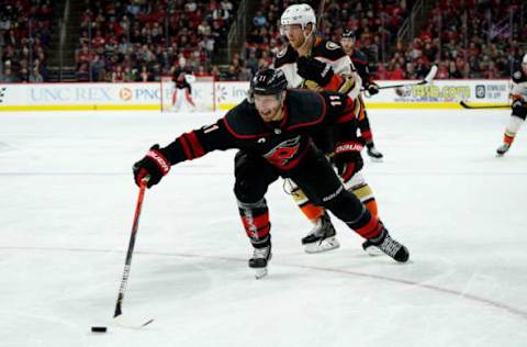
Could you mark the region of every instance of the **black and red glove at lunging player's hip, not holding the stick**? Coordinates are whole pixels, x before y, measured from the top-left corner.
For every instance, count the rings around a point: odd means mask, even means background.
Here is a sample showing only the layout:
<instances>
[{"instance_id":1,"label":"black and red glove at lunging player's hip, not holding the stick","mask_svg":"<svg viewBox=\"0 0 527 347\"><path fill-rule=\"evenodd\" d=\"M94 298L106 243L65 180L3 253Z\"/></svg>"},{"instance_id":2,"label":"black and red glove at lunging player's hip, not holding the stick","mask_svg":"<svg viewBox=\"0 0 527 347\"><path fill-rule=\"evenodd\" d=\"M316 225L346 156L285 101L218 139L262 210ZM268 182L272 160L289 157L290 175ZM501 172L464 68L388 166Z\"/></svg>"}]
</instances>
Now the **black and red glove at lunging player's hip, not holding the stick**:
<instances>
[{"instance_id":1,"label":"black and red glove at lunging player's hip, not holding the stick","mask_svg":"<svg viewBox=\"0 0 527 347\"><path fill-rule=\"evenodd\" d=\"M335 148L335 166L337 167L338 176L346 183L355 176L365 161L360 152L365 147L365 144L360 141L340 143Z\"/></svg>"}]
</instances>

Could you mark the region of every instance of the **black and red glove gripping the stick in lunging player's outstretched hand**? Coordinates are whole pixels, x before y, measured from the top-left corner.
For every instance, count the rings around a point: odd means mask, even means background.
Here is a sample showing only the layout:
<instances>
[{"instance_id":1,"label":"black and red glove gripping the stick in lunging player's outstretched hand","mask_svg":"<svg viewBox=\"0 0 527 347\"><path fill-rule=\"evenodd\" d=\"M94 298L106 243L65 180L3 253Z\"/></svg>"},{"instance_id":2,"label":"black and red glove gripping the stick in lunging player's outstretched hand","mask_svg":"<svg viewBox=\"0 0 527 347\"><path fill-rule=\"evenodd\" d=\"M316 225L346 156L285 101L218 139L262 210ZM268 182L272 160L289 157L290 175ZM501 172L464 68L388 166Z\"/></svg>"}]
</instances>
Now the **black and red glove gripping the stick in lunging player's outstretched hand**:
<instances>
[{"instance_id":1,"label":"black and red glove gripping the stick in lunging player's outstretched hand","mask_svg":"<svg viewBox=\"0 0 527 347\"><path fill-rule=\"evenodd\" d=\"M134 171L134 180L137 186L145 178L148 178L147 188L159 183L161 178L170 170L170 161L168 161L164 149L159 145L152 146L150 150L139 161L132 167Z\"/></svg>"}]
</instances>

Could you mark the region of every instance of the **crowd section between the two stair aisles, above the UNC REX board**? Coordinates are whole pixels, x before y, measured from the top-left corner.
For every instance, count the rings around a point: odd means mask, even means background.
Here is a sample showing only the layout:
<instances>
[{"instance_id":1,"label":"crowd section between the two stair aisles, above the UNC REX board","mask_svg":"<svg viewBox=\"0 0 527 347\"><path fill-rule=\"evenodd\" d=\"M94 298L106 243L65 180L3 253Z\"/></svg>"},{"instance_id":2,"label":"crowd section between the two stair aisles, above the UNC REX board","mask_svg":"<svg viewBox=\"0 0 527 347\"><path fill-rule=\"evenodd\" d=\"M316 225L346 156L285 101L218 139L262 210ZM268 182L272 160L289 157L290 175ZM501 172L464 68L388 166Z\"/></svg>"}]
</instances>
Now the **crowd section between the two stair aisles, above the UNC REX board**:
<instances>
[{"instance_id":1,"label":"crowd section between the two stair aisles, above the UNC REX board","mask_svg":"<svg viewBox=\"0 0 527 347\"><path fill-rule=\"evenodd\" d=\"M177 71L210 74L236 1L86 0L77 77L153 81Z\"/></svg>"}]
</instances>

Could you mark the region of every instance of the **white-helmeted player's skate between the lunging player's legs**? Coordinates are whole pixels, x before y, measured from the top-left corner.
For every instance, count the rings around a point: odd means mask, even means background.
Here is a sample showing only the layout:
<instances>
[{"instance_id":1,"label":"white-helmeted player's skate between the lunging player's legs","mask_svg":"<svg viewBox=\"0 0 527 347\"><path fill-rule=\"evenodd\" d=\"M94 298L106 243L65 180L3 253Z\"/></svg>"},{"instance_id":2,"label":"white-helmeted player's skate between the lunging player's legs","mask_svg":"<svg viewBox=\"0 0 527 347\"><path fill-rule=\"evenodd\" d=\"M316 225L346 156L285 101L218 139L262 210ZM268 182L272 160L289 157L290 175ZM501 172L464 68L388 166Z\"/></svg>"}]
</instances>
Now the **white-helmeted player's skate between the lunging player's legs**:
<instances>
[{"instance_id":1,"label":"white-helmeted player's skate between the lunging player's legs","mask_svg":"<svg viewBox=\"0 0 527 347\"><path fill-rule=\"evenodd\" d=\"M322 253L340 247L335 235L336 232L332 220L327 213L324 213L311 232L302 238L305 253Z\"/></svg>"}]
</instances>

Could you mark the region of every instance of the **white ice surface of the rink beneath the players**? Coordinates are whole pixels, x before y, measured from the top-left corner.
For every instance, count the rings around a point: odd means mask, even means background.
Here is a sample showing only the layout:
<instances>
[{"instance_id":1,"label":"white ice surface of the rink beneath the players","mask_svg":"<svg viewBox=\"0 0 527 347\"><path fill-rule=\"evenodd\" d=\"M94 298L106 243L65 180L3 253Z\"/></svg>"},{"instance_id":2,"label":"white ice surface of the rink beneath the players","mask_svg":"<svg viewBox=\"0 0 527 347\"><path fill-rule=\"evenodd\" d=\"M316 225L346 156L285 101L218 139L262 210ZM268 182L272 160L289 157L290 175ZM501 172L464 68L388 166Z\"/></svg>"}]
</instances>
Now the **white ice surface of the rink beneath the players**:
<instances>
[{"instance_id":1,"label":"white ice surface of the rink beneath the players","mask_svg":"<svg viewBox=\"0 0 527 347\"><path fill-rule=\"evenodd\" d=\"M273 258L255 280L232 193L234 150L172 167L145 195L123 304L112 314L137 198L131 166L205 114L0 114L0 345L527 346L527 127L495 157L506 110L371 110L384 163L365 159L380 215L411 261L341 247L276 182ZM90 326L108 325L106 334Z\"/></svg>"}]
</instances>

